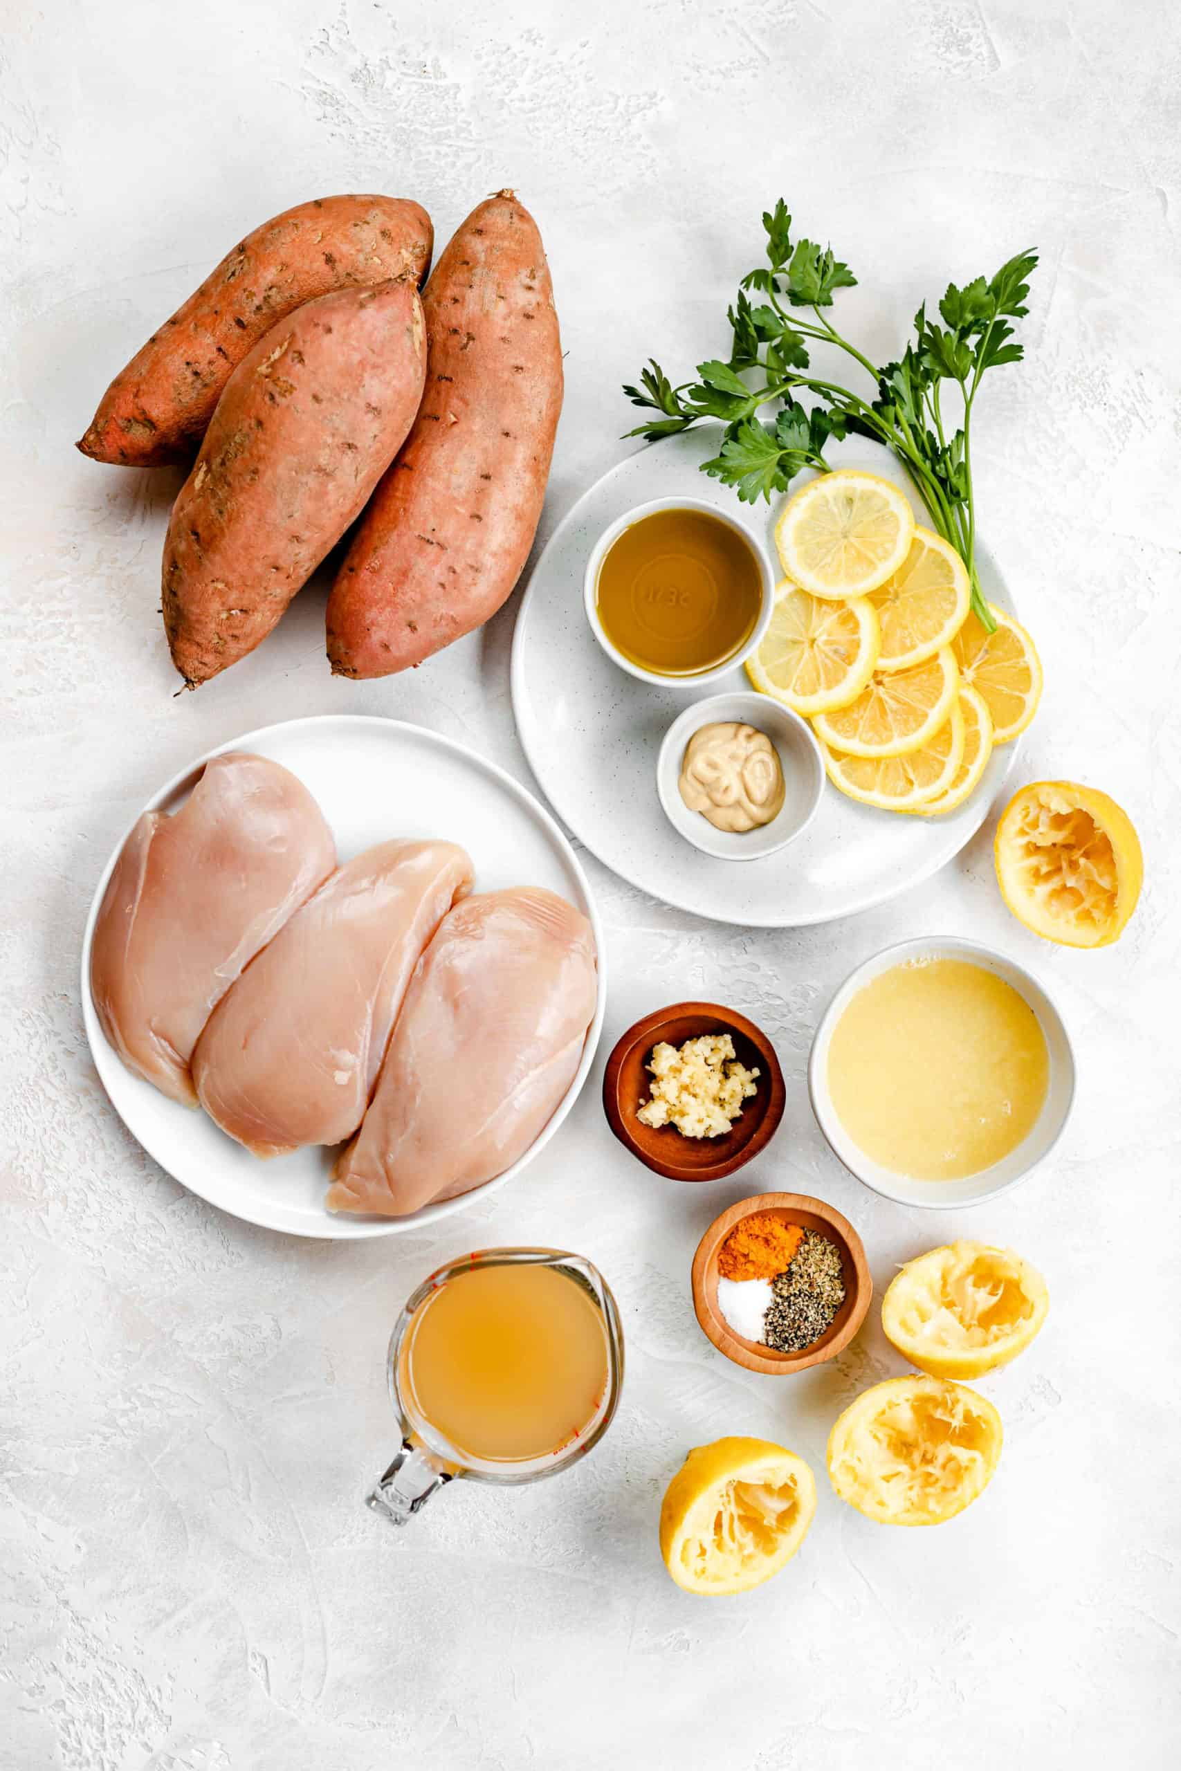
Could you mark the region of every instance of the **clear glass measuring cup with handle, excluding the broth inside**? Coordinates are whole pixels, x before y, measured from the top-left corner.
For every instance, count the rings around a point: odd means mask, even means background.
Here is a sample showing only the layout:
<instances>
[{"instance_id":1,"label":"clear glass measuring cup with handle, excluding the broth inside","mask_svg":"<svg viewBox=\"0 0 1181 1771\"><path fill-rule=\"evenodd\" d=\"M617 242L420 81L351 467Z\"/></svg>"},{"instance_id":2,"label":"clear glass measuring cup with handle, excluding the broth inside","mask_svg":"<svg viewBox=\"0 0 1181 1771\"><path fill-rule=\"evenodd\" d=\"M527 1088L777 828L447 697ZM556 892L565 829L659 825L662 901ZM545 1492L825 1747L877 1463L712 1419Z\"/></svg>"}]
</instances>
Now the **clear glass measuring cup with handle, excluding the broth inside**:
<instances>
[{"instance_id":1,"label":"clear glass measuring cup with handle, excluding the broth inside","mask_svg":"<svg viewBox=\"0 0 1181 1771\"><path fill-rule=\"evenodd\" d=\"M416 1396L411 1351L416 1334L421 1328L421 1316L427 1305L437 1298L448 1284L462 1284L466 1275L487 1268L552 1268L565 1280L577 1286L583 1298L593 1307L606 1342L606 1380L590 1417L568 1431L551 1450L536 1456L492 1458L464 1450L452 1443L446 1435L427 1419ZM462 1360L462 1353L457 1355ZM473 1482L538 1482L544 1475L556 1475L598 1443L611 1426L623 1385L623 1330L620 1312L611 1296L611 1289L591 1261L579 1254L567 1254L561 1249L482 1249L478 1254L460 1256L437 1268L407 1298L390 1337L386 1360L390 1380L390 1399L402 1427L402 1449L393 1463L367 1495L367 1505L382 1514L391 1525L405 1525L418 1509L457 1477Z\"/></svg>"}]
</instances>

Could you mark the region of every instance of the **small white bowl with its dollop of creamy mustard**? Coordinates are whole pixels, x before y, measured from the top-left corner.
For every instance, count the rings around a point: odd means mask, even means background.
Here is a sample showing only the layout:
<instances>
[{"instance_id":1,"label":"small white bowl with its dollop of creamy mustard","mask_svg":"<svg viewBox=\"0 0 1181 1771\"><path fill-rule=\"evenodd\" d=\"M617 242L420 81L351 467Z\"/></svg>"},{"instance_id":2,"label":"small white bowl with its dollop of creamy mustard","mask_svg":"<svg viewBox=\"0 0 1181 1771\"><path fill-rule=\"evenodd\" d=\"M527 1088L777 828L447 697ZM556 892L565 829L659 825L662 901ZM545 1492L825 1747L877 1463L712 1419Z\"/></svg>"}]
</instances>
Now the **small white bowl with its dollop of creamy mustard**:
<instances>
[{"instance_id":1,"label":"small white bowl with its dollop of creamy mustard","mask_svg":"<svg viewBox=\"0 0 1181 1771\"><path fill-rule=\"evenodd\" d=\"M717 749L710 756L714 733ZM763 744L742 733L758 733ZM760 861L786 848L816 815L823 785L823 758L811 726L753 689L694 701L673 721L657 756L657 793L666 818L687 843L717 861ZM770 816L751 829L719 829L706 815L726 822L737 804L753 820L761 816L760 806Z\"/></svg>"}]
</instances>

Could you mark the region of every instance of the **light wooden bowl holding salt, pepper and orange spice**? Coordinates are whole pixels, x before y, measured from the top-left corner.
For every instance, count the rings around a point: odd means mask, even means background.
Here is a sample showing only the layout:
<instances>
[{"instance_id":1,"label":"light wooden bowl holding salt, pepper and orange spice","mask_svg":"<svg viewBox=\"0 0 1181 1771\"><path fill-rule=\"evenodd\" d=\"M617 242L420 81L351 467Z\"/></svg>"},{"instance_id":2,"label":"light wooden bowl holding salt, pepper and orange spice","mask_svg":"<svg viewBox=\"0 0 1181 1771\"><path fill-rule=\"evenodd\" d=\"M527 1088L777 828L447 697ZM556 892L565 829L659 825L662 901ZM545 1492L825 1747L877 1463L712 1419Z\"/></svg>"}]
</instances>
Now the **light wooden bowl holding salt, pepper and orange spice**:
<instances>
[{"instance_id":1,"label":"light wooden bowl holding salt, pepper and orange spice","mask_svg":"<svg viewBox=\"0 0 1181 1771\"><path fill-rule=\"evenodd\" d=\"M692 1261L692 1307L719 1353L786 1378L853 1339L873 1296L861 1236L811 1194L760 1194L714 1218Z\"/></svg>"}]
</instances>

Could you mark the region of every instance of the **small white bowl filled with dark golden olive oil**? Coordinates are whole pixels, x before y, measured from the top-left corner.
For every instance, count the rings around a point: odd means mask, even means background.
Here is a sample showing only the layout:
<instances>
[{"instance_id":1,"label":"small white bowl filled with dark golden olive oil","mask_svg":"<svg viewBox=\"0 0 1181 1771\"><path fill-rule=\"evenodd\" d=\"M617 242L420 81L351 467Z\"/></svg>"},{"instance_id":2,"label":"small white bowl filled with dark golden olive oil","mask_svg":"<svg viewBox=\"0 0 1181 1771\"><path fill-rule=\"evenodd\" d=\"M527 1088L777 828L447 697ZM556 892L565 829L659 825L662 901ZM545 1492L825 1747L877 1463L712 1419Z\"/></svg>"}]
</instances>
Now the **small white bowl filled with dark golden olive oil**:
<instances>
[{"instance_id":1,"label":"small white bowl filled with dark golden olive oil","mask_svg":"<svg viewBox=\"0 0 1181 1771\"><path fill-rule=\"evenodd\" d=\"M763 639L776 602L767 549L699 498L657 498L609 524L583 600L607 657L641 682L696 689Z\"/></svg>"}]
</instances>

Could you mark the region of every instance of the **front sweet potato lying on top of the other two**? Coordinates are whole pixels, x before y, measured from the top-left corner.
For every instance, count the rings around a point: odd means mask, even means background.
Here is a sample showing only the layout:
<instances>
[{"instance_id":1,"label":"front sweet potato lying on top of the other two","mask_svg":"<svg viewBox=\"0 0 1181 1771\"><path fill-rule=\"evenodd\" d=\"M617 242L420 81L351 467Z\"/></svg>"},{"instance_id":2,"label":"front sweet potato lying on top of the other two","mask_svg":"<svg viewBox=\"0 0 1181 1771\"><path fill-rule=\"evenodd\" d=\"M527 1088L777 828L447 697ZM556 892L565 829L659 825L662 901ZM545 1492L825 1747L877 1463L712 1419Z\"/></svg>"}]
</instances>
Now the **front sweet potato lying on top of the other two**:
<instances>
[{"instance_id":1,"label":"front sweet potato lying on top of the other two","mask_svg":"<svg viewBox=\"0 0 1181 1771\"><path fill-rule=\"evenodd\" d=\"M165 540L165 632L189 687L253 652L356 521L425 372L407 278L296 308L237 365Z\"/></svg>"}]
</instances>

